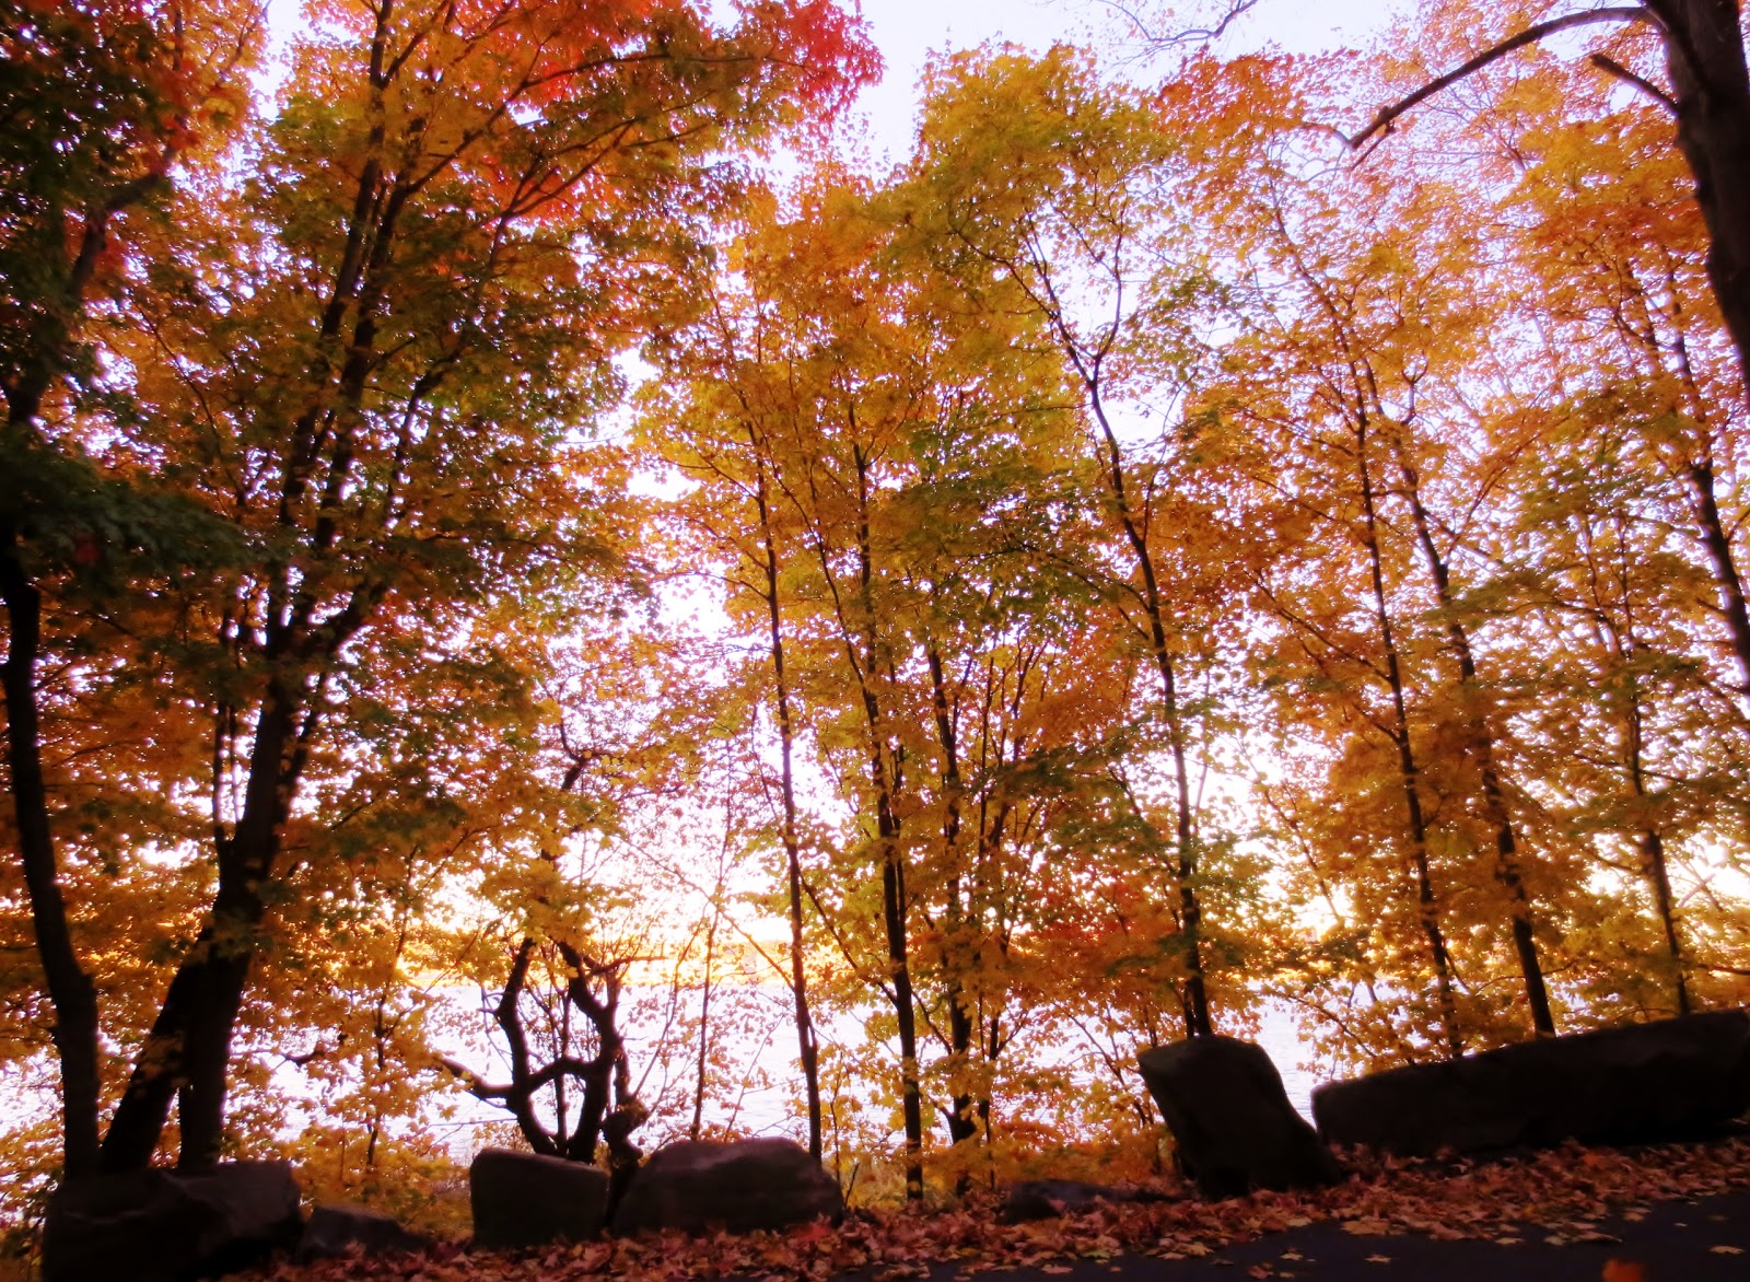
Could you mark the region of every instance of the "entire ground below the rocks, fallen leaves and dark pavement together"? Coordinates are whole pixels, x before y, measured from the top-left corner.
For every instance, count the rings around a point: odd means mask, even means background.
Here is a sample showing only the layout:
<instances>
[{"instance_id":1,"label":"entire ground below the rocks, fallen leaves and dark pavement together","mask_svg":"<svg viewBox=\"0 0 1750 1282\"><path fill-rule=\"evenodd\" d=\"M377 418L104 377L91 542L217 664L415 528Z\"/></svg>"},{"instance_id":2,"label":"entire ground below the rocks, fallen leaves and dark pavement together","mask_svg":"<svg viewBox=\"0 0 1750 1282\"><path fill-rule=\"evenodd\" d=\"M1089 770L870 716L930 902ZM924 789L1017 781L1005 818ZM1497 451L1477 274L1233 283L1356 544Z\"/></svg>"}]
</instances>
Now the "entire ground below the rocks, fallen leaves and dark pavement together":
<instances>
[{"instance_id":1,"label":"entire ground below the rocks, fallen leaves and dark pavement together","mask_svg":"<svg viewBox=\"0 0 1750 1282\"><path fill-rule=\"evenodd\" d=\"M441 1243L420 1256L278 1264L257 1282L1712 1282L1750 1278L1750 1140L1586 1149L1496 1161L1348 1154L1309 1194L1101 1203L1001 1224L970 1198L854 1212L788 1233L648 1236L514 1254ZM1166 1189L1164 1189L1166 1191ZM992 1278L992 1282L998 1282Z\"/></svg>"}]
</instances>

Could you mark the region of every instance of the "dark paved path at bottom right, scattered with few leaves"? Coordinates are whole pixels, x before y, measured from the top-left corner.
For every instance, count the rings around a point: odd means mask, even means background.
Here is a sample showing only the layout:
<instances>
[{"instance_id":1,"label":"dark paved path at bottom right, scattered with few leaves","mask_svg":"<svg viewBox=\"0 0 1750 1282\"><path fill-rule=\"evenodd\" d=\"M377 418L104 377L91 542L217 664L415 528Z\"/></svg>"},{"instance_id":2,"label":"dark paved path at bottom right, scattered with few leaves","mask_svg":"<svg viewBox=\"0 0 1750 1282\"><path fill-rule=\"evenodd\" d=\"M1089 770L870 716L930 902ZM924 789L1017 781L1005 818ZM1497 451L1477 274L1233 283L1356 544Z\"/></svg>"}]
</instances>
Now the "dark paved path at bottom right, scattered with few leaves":
<instances>
[{"instance_id":1,"label":"dark paved path at bottom right, scattered with few leaves","mask_svg":"<svg viewBox=\"0 0 1750 1282\"><path fill-rule=\"evenodd\" d=\"M1620 1242L1550 1243L1528 1229L1522 1242L1437 1242L1424 1236L1360 1236L1321 1222L1227 1247L1204 1259L1127 1256L994 1270L990 1282L1606 1282L1608 1261L1633 1261L1645 1282L1750 1282L1750 1193L1650 1207L1638 1222L1610 1219L1600 1231ZM938 1277L940 1275L940 1277ZM945 1282L954 1270L933 1270ZM1634 1282L1633 1271L1608 1282Z\"/></svg>"}]
</instances>

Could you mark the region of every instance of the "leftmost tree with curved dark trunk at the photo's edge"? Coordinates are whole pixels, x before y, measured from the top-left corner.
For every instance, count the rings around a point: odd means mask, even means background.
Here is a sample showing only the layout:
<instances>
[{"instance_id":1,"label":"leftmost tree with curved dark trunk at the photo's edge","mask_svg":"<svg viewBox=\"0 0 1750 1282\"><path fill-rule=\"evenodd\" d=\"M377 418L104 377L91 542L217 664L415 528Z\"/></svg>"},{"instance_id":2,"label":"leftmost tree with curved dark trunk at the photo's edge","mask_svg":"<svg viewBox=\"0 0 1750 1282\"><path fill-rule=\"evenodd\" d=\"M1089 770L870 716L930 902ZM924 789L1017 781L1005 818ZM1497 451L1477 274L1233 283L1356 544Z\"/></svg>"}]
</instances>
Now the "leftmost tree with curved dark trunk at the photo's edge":
<instances>
[{"instance_id":1,"label":"leftmost tree with curved dark trunk at the photo's edge","mask_svg":"<svg viewBox=\"0 0 1750 1282\"><path fill-rule=\"evenodd\" d=\"M191 149L222 144L257 46L256 4L0 7L0 494L7 771L33 935L54 1007L68 1173L98 1161L98 1002L68 928L42 764L44 578L91 566L98 529L163 532L128 487L42 433L61 378L89 373L86 312L116 284L116 224L161 198ZM130 511L130 506L133 511ZM152 520L158 517L158 520ZM68 548L68 543L72 546ZM68 555L68 552L72 555Z\"/></svg>"}]
</instances>

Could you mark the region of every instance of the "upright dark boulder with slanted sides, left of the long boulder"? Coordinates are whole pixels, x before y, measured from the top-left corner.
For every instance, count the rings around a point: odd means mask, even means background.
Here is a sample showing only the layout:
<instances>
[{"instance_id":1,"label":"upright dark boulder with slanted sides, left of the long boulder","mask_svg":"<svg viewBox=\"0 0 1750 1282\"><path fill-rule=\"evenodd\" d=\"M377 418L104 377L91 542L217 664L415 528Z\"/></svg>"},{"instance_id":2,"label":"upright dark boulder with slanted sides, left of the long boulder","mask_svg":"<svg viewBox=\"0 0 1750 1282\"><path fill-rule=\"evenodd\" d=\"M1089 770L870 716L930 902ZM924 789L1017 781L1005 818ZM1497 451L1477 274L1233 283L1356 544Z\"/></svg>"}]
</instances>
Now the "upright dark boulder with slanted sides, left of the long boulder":
<instances>
[{"instance_id":1,"label":"upright dark boulder with slanted sides, left of the long boulder","mask_svg":"<svg viewBox=\"0 0 1750 1282\"><path fill-rule=\"evenodd\" d=\"M1206 1198L1311 1189L1342 1179L1318 1133L1288 1103L1270 1056L1234 1037L1194 1037L1138 1056L1172 1131L1180 1166Z\"/></svg>"}]
</instances>

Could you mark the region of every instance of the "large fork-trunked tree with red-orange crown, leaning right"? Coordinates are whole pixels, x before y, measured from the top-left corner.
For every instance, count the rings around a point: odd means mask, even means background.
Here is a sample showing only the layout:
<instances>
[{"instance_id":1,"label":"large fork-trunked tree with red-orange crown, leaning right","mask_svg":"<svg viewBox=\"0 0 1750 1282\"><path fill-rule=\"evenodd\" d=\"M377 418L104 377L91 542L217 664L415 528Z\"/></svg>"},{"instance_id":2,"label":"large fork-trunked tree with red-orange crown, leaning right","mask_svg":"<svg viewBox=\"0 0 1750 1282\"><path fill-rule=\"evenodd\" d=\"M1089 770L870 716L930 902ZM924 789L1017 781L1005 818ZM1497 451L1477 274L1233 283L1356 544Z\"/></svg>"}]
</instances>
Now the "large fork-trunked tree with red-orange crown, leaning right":
<instances>
[{"instance_id":1,"label":"large fork-trunked tree with red-orange crown, leaning right","mask_svg":"<svg viewBox=\"0 0 1750 1282\"><path fill-rule=\"evenodd\" d=\"M581 473L558 466L612 391L597 354L635 233L672 240L714 147L866 70L824 4L728 32L681 5L364 7L301 47L259 161L186 196L180 261L133 264L103 338L138 419L80 406L80 431L107 422L107 468L173 480L248 553L191 585L210 641L178 697L214 727L217 890L105 1168L149 1161L178 1095L184 1163L217 1156L289 825L374 637L462 636L480 602L588 553Z\"/></svg>"}]
</instances>

